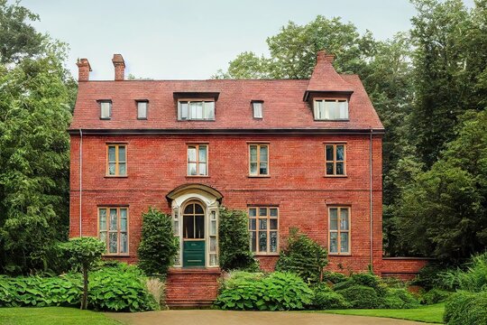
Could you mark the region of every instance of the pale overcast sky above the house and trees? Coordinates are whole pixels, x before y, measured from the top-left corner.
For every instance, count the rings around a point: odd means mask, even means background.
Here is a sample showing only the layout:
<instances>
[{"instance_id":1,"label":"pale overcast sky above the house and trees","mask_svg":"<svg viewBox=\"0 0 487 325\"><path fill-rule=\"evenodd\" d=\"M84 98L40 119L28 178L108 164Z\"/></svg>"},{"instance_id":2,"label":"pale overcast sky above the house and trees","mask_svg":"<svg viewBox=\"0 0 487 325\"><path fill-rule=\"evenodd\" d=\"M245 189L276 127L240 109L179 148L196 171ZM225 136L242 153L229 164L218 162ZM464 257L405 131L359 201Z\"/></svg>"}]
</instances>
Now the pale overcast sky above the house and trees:
<instances>
[{"instance_id":1,"label":"pale overcast sky above the house and trees","mask_svg":"<svg viewBox=\"0 0 487 325\"><path fill-rule=\"evenodd\" d=\"M472 5L473 0L464 0ZM12 1L10 1L12 2ZM41 32L68 42L68 68L87 58L90 79L113 79L121 53L126 73L152 79L208 79L242 51L267 54L268 36L289 21L342 17L377 39L406 31L408 0L23 0L40 14Z\"/></svg>"}]
</instances>

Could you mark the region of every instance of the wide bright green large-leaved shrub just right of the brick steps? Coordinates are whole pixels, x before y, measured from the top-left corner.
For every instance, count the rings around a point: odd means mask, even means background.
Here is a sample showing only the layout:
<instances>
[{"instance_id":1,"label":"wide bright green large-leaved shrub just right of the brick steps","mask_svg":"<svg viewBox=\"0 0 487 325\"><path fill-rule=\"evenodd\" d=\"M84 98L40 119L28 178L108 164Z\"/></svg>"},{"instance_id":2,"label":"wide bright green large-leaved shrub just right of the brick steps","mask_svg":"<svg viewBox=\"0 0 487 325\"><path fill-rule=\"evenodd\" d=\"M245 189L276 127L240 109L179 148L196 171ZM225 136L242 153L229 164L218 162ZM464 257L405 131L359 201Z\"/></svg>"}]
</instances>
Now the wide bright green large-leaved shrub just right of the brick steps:
<instances>
[{"instance_id":1,"label":"wide bright green large-leaved shrub just right of the brick steps","mask_svg":"<svg viewBox=\"0 0 487 325\"><path fill-rule=\"evenodd\" d=\"M254 278L240 277L224 284L216 306L224 310L302 310L312 302L313 292L296 274L275 272ZM230 280L232 281L232 280Z\"/></svg>"}]
</instances>

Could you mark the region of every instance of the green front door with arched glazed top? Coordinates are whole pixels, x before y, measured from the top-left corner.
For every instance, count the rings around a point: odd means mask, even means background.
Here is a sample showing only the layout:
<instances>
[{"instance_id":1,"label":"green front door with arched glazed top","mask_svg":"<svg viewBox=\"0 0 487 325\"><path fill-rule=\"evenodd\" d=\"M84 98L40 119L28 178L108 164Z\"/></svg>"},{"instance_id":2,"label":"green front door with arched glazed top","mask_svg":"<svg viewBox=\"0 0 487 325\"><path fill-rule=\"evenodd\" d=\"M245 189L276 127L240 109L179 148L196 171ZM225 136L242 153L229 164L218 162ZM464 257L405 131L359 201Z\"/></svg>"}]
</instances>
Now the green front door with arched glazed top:
<instances>
[{"instance_id":1,"label":"green front door with arched glazed top","mask_svg":"<svg viewBox=\"0 0 487 325\"><path fill-rule=\"evenodd\" d=\"M183 267L205 266L205 210L190 202L183 213Z\"/></svg>"}]
</instances>

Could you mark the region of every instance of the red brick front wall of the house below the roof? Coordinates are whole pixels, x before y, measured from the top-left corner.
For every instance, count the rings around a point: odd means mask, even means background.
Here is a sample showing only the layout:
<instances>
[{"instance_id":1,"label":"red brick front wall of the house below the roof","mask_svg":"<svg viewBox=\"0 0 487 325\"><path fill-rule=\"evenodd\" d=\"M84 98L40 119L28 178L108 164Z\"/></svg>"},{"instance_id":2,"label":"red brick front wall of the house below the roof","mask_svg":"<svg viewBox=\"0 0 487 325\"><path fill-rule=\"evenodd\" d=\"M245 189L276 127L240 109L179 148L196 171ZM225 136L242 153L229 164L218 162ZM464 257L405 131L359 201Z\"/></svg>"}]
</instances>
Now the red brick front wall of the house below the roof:
<instances>
[{"instance_id":1,"label":"red brick front wall of the house below the roof","mask_svg":"<svg viewBox=\"0 0 487 325\"><path fill-rule=\"evenodd\" d=\"M248 142L270 143L269 178L248 177ZM346 142L348 177L324 177L326 142ZM127 144L126 178L106 178L106 143ZM208 177L186 176L188 143L208 144ZM96 236L97 206L129 206L129 257L136 260L142 212L149 206L170 212L165 196L188 182L207 184L231 209L280 207L280 244L299 227L327 246L328 204L351 207L350 256L330 256L329 268L362 271L371 263L368 135L131 135L83 138L83 236ZM70 236L79 236L79 136L71 136ZM381 137L373 140L373 264L381 265ZM259 256L271 270L275 256ZM379 270L379 269L377 269Z\"/></svg>"}]
</instances>

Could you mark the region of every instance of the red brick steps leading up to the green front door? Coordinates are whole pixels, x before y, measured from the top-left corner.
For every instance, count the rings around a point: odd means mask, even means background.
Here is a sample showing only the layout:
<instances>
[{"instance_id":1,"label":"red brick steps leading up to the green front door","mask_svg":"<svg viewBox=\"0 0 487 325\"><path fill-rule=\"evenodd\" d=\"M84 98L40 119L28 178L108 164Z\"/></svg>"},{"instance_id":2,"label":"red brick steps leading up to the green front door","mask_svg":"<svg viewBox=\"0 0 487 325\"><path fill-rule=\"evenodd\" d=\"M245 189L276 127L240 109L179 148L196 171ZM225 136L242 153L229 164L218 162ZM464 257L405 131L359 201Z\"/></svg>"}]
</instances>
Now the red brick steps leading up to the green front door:
<instances>
[{"instance_id":1,"label":"red brick steps leading up to the green front door","mask_svg":"<svg viewBox=\"0 0 487 325\"><path fill-rule=\"evenodd\" d=\"M171 268L166 281L166 304L171 309L208 307L216 300L220 269Z\"/></svg>"}]
</instances>

